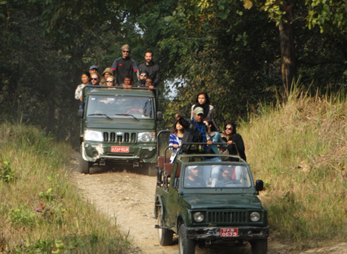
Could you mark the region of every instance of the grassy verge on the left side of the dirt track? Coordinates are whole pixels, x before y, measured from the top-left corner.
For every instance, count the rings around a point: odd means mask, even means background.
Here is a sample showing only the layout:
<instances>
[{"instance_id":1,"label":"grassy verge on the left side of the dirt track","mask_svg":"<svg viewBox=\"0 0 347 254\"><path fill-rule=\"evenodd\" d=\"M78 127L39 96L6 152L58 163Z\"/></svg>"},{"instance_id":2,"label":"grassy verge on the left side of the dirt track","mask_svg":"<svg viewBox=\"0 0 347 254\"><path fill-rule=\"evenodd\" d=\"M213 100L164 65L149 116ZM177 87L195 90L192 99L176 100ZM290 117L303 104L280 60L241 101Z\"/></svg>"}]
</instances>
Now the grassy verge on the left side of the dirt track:
<instances>
[{"instance_id":1,"label":"grassy verge on the left side of the dirt track","mask_svg":"<svg viewBox=\"0 0 347 254\"><path fill-rule=\"evenodd\" d=\"M32 126L0 125L0 253L135 252L69 183L72 152Z\"/></svg>"}]
</instances>

